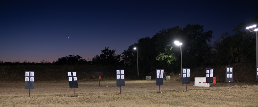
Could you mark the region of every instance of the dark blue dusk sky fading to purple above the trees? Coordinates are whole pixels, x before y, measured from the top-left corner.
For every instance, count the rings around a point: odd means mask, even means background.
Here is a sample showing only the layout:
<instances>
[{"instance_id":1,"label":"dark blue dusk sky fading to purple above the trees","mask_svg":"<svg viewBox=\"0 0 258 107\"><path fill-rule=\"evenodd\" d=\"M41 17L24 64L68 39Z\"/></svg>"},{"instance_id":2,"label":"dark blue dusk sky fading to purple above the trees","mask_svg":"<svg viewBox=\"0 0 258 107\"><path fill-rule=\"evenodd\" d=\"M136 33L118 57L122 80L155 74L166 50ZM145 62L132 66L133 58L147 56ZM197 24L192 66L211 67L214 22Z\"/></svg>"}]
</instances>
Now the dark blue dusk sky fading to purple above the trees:
<instances>
[{"instance_id":1,"label":"dark blue dusk sky fading to purple above the trees","mask_svg":"<svg viewBox=\"0 0 258 107\"><path fill-rule=\"evenodd\" d=\"M162 28L199 24L214 40L257 15L251 1L1 0L0 61L53 62L71 54L116 54ZM255 8L256 7L256 8ZM69 38L68 38L69 37ZM173 40L171 40L171 43Z\"/></svg>"}]
</instances>

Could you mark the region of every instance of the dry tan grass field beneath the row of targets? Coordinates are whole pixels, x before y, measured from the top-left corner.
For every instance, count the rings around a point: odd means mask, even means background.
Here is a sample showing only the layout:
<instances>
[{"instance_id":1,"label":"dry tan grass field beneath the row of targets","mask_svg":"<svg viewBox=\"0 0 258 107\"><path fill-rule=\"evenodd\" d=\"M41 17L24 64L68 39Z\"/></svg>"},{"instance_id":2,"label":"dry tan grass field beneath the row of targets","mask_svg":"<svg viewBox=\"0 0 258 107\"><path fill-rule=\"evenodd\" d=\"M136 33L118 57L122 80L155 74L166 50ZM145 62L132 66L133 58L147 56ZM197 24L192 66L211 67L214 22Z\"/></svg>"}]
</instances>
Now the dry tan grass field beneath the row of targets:
<instances>
[{"instance_id":1,"label":"dry tan grass field beneath the row of targets","mask_svg":"<svg viewBox=\"0 0 258 107\"><path fill-rule=\"evenodd\" d=\"M0 83L0 106L6 107L156 107L156 106L258 106L257 84L228 83L211 84L208 87L195 87L193 82L186 85L180 81L165 81L164 85L155 85L155 80L125 81L125 86L116 87L115 80L98 79L78 80L79 88L69 88L67 81L35 82L35 89L28 90L24 82Z\"/></svg>"}]
</instances>

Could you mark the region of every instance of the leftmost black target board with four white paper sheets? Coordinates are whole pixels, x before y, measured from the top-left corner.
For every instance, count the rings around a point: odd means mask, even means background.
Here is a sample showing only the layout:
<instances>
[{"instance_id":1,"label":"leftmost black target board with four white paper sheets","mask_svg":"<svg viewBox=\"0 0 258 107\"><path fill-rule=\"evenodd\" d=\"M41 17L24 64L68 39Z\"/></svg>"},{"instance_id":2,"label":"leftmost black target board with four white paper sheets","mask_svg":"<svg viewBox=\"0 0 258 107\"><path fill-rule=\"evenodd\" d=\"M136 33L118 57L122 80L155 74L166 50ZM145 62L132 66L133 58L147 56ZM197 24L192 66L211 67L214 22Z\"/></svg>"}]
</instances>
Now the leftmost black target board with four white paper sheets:
<instances>
[{"instance_id":1,"label":"leftmost black target board with four white paper sheets","mask_svg":"<svg viewBox=\"0 0 258 107\"><path fill-rule=\"evenodd\" d=\"M34 89L34 71L25 71L25 89Z\"/></svg>"}]
</instances>

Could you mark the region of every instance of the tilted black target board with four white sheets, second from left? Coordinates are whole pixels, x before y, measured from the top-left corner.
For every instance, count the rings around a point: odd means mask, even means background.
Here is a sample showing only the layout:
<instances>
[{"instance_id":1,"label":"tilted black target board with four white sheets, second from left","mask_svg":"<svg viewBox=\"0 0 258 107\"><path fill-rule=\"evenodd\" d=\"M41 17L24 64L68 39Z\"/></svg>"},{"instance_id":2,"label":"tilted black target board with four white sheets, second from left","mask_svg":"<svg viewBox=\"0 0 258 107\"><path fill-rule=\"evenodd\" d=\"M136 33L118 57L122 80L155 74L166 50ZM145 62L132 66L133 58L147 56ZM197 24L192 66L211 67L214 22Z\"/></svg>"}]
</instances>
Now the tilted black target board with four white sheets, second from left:
<instances>
[{"instance_id":1,"label":"tilted black target board with four white sheets, second from left","mask_svg":"<svg viewBox=\"0 0 258 107\"><path fill-rule=\"evenodd\" d=\"M67 73L68 73L69 87L70 88L78 88L76 72L73 71L73 72L67 72Z\"/></svg>"}]
</instances>

